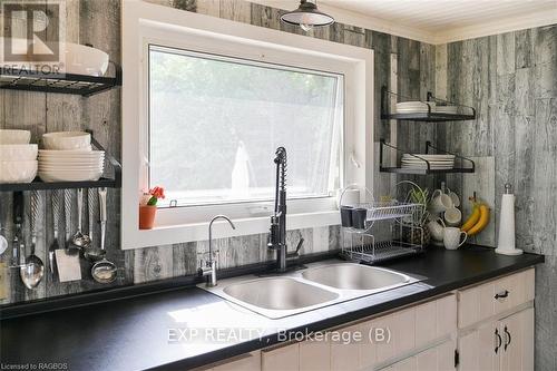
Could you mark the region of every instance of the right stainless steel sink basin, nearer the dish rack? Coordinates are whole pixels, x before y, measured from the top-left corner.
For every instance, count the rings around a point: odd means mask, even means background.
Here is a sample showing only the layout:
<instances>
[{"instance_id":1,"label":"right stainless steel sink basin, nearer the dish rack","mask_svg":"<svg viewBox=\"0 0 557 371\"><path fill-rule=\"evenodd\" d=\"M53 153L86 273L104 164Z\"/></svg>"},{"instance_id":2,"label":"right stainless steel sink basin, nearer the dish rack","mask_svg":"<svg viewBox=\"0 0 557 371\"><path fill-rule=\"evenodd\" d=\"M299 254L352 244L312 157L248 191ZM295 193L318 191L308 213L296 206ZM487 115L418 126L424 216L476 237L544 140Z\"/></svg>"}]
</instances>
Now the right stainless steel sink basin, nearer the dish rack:
<instances>
[{"instance_id":1,"label":"right stainless steel sink basin, nearer the dish rack","mask_svg":"<svg viewBox=\"0 0 557 371\"><path fill-rule=\"evenodd\" d=\"M387 290L410 281L408 275L361 264L333 264L302 273L307 281L341 290Z\"/></svg>"}]
</instances>

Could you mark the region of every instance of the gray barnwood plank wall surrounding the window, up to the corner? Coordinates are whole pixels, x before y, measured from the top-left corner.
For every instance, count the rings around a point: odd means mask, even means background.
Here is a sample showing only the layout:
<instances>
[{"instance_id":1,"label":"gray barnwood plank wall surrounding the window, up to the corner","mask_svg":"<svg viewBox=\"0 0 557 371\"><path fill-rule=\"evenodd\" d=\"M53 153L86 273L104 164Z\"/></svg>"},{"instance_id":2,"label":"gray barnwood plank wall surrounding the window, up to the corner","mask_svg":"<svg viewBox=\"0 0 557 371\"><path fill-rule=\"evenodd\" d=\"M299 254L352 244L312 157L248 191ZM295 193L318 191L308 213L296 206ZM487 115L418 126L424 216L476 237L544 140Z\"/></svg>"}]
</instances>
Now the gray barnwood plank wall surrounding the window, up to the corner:
<instances>
[{"instance_id":1,"label":"gray barnwood plank wall surrounding the window, up to the corner","mask_svg":"<svg viewBox=\"0 0 557 371\"><path fill-rule=\"evenodd\" d=\"M250 3L242 0L153 0L150 2L174 7L186 11L231 19L240 22L272 28L291 33L305 35L300 28L283 25L278 17L281 10ZM96 48L107 51L115 62L120 61L120 2L117 0L68 0L66 2L66 38L68 41L91 43ZM420 43L387 33L367 30L342 23L333 27L315 29L309 32L310 37L349 43L362 48L372 48L375 51L375 139L390 140L390 127L379 118L380 88L393 81L391 71L399 71L394 81L398 89L417 97L424 97L427 90L434 88L434 52L431 45ZM397 66L391 66L395 62ZM120 156L120 94L118 90L81 98L69 95L52 95L38 92L17 92L0 90L0 127L29 128L33 141L46 131L79 130L90 128L96 138L117 158ZM412 123L413 124L413 123ZM437 140L436 126L413 128L408 124L416 140L408 140L408 135L399 135L397 140L418 150L427 138ZM403 133L403 131L402 131ZM377 186L381 194L392 189L394 177L378 174ZM57 196L58 194L58 196ZM76 192L69 192L71 197L71 213L69 215L74 233L77 223ZM41 218L37 254L48 265L47 250L53 240L51 197L63 198L63 193L41 193ZM29 199L29 195L26 195ZM121 286L155 280L169 279L186 274L194 274L197 262L207 251L207 242L175 244L172 246L153 246L139 250L121 251L119 248L119 191L110 189L108 194L108 258L118 267L118 279L110 286ZM0 222L7 227L6 237L12 238L12 204L11 194L0 195ZM63 209L63 207L61 208ZM63 213L62 213L63 214ZM84 212L84 217L87 213ZM95 211L95 221L98 211ZM60 235L65 235L63 215L60 222ZM26 223L26 228L28 226ZM99 235L98 223L94 225L94 235ZM295 245L300 237L305 244L302 253L322 252L340 246L340 231L338 226L310 228L289 232L290 245ZM29 236L29 233L26 233ZM98 243L98 238L95 241ZM28 242L29 243L29 242ZM232 267L273 258L273 253L266 248L266 234L250 235L234 238L223 238L215 242L219 250L219 266ZM2 255L9 262L11 251ZM48 266L47 266L48 267ZM59 283L47 276L32 291L25 289L16 271L8 272L10 277L7 292L9 295L0 300L1 304L13 304L21 301L48 299L59 295L75 294L91 290L107 289L107 285L95 283L89 275L89 264L82 262L84 280L78 282Z\"/></svg>"}]
</instances>

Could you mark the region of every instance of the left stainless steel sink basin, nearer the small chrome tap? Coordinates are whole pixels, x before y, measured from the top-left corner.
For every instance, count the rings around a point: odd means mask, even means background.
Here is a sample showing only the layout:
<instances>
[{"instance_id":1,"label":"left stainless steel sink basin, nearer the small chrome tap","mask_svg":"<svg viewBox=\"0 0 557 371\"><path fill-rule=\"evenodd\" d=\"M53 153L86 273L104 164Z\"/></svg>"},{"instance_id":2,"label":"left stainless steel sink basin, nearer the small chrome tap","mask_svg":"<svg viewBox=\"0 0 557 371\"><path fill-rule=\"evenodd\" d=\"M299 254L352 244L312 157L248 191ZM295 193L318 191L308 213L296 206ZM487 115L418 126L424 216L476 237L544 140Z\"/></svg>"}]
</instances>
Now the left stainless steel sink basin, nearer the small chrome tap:
<instances>
[{"instance_id":1,"label":"left stainless steel sink basin, nearer the small chrome tap","mask_svg":"<svg viewBox=\"0 0 557 371\"><path fill-rule=\"evenodd\" d=\"M339 297L338 293L289 277L236 283L223 291L234 299L267 310L297 310Z\"/></svg>"}]
</instances>

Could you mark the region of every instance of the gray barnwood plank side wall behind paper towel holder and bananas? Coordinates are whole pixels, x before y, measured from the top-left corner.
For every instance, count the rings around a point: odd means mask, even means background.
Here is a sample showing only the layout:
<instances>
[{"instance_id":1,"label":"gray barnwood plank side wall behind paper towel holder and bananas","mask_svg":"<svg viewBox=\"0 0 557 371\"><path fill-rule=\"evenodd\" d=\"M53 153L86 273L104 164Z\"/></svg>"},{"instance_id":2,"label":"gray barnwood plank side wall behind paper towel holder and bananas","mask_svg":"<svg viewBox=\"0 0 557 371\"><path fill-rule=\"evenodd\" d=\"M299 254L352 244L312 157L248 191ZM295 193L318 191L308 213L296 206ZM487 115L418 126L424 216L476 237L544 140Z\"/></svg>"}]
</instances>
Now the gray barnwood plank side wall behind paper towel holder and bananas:
<instances>
[{"instance_id":1,"label":"gray barnwood plank side wall behind paper towel holder and bananas","mask_svg":"<svg viewBox=\"0 0 557 371\"><path fill-rule=\"evenodd\" d=\"M481 164L495 159L477 187L468 175L451 176L449 186L466 197L495 189L497 227L505 183L512 185L517 244L546 255L536 272L536 370L557 370L557 25L441 45L436 53L437 94L478 111L476 121L447 124L447 146Z\"/></svg>"}]
</instances>

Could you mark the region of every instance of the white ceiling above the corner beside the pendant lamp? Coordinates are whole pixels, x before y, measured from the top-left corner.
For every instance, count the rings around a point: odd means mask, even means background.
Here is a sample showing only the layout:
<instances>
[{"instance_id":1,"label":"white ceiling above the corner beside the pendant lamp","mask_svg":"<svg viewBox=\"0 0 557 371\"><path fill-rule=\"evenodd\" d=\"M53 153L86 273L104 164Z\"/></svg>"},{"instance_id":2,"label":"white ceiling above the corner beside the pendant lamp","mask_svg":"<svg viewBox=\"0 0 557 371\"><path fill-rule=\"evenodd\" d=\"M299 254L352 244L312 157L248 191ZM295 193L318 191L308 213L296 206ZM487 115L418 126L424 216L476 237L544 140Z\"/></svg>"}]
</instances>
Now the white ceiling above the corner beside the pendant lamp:
<instances>
[{"instance_id":1,"label":"white ceiling above the corner beside the pendant lamp","mask_svg":"<svg viewBox=\"0 0 557 371\"><path fill-rule=\"evenodd\" d=\"M252 0L295 9L299 0ZM557 23L557 0L319 0L338 21L441 43Z\"/></svg>"}]
</instances>

